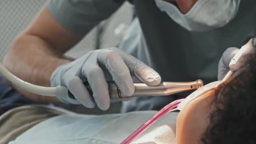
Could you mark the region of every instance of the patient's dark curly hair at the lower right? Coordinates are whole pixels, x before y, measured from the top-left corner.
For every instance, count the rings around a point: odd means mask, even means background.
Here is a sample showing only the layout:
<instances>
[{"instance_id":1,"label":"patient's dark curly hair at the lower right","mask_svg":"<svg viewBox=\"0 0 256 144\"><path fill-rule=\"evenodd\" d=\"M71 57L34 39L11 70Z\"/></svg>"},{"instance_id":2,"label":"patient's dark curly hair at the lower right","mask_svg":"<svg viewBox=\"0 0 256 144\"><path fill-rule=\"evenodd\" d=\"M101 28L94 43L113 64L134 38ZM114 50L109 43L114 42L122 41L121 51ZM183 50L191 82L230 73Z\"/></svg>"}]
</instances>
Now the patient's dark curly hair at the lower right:
<instances>
[{"instance_id":1,"label":"patient's dark curly hair at the lower right","mask_svg":"<svg viewBox=\"0 0 256 144\"><path fill-rule=\"evenodd\" d=\"M242 73L217 91L204 144L256 144L256 54Z\"/></svg>"}]
</instances>

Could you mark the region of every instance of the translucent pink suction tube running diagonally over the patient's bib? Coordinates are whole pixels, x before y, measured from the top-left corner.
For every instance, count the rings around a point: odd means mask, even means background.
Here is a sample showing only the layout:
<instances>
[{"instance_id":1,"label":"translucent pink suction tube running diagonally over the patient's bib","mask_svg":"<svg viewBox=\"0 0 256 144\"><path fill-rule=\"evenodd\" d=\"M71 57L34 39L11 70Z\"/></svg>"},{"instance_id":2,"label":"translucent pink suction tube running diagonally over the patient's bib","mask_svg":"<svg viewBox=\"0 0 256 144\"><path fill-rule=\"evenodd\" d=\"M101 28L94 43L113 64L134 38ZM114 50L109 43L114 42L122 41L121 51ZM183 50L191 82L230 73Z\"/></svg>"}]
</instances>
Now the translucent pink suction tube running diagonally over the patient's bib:
<instances>
[{"instance_id":1,"label":"translucent pink suction tube running diagonally over the patient's bib","mask_svg":"<svg viewBox=\"0 0 256 144\"><path fill-rule=\"evenodd\" d=\"M170 112L172 109L176 108L181 101L184 99L178 99L176 101L171 102L166 105L163 109L157 112L153 117L151 117L147 122L142 124L136 131L134 131L130 136L128 136L121 144L130 144L137 136L139 136L142 132L144 132L150 125L155 123L155 121L159 120L160 117L165 115L167 112Z\"/></svg>"}]
</instances>

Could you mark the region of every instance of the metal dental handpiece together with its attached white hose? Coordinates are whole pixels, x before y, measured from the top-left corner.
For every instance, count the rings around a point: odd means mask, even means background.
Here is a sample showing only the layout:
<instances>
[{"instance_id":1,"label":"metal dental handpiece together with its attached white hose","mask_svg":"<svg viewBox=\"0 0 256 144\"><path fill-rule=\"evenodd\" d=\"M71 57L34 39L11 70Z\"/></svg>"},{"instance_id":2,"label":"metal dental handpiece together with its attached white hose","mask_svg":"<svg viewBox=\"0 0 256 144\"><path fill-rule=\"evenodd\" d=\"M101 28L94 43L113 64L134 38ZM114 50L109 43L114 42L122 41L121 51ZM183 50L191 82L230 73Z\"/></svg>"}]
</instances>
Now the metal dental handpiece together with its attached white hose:
<instances>
[{"instance_id":1,"label":"metal dental handpiece together with its attached white hose","mask_svg":"<svg viewBox=\"0 0 256 144\"><path fill-rule=\"evenodd\" d=\"M69 97L75 99L72 93L70 93L65 86L43 87L27 83L9 72L2 64L0 64L0 73L2 73L3 77L13 83L13 85L16 85L17 87L31 93L39 94L42 96L61 96L64 98ZM84 84L88 91L92 94L90 85L88 85L88 83ZM171 94L179 93L182 91L198 89L203 86L203 81L196 80L194 82L162 82L157 86L149 86L144 83L134 83L135 92L133 96L123 95L114 82L109 82L108 84L111 101L118 101L119 99L136 96L169 96Z\"/></svg>"}]
</instances>

